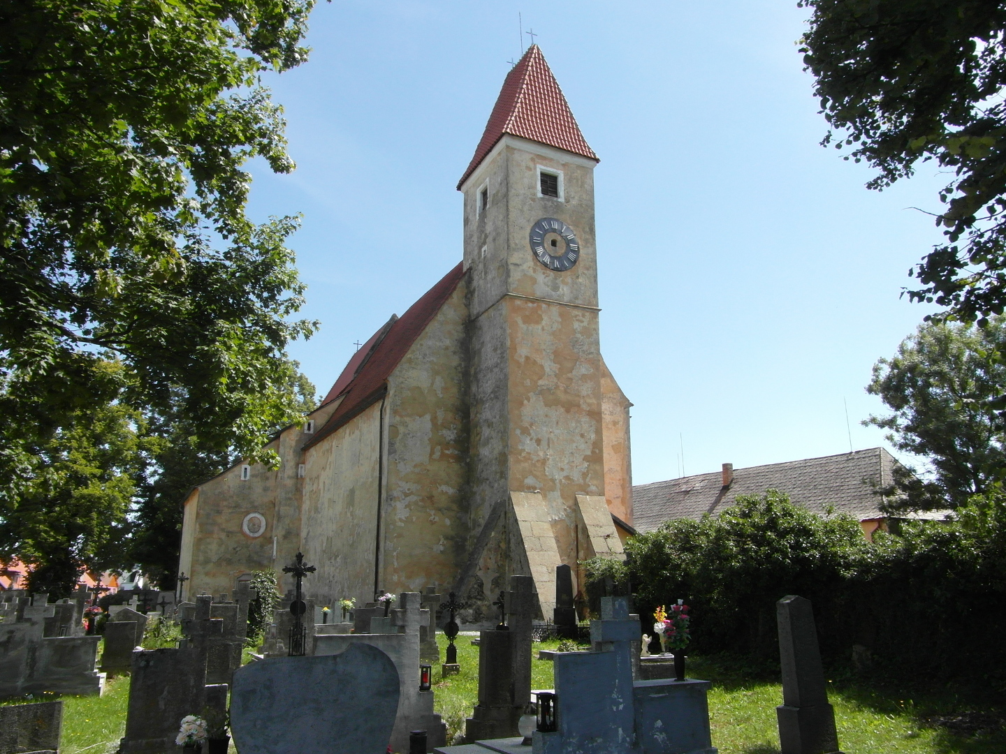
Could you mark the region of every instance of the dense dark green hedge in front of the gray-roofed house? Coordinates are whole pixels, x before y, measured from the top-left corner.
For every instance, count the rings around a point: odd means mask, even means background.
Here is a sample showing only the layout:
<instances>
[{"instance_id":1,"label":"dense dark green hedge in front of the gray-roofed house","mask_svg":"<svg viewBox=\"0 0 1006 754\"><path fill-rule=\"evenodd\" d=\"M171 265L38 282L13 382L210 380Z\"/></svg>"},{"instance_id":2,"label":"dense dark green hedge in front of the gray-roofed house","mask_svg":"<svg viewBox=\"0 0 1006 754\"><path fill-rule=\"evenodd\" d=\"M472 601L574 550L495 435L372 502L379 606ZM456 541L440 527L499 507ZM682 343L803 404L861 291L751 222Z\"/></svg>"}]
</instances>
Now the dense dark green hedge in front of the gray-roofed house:
<instances>
[{"instance_id":1,"label":"dense dark green hedge in front of the gray-roofed house","mask_svg":"<svg viewBox=\"0 0 1006 754\"><path fill-rule=\"evenodd\" d=\"M855 519L816 516L770 491L633 538L627 571L645 624L657 605L692 605L698 652L778 659L775 603L799 594L814 602L833 667L855 657L860 671L1002 687L1006 498L975 499L955 519L904 523L870 543Z\"/></svg>"}]
</instances>

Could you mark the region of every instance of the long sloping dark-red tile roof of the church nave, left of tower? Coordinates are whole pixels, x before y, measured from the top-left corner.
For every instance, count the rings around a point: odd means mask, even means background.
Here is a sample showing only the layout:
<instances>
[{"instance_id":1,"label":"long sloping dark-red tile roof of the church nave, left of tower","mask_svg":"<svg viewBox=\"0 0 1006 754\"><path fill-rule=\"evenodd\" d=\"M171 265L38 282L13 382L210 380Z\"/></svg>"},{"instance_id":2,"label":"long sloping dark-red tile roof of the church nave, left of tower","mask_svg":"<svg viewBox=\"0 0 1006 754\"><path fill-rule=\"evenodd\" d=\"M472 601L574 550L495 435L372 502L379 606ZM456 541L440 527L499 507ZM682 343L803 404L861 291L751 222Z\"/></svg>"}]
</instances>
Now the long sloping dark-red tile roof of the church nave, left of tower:
<instances>
[{"instance_id":1,"label":"long sloping dark-red tile roof of the church nave, left of tower","mask_svg":"<svg viewBox=\"0 0 1006 754\"><path fill-rule=\"evenodd\" d=\"M458 266L409 307L405 314L398 318L392 317L374 333L363 348L353 354L353 358L325 396L324 402L328 403L344 395L342 403L311 441L304 445L305 448L334 432L384 395L387 391L387 378L441 307L451 298L464 274L464 265L459 262Z\"/></svg>"}]
</instances>

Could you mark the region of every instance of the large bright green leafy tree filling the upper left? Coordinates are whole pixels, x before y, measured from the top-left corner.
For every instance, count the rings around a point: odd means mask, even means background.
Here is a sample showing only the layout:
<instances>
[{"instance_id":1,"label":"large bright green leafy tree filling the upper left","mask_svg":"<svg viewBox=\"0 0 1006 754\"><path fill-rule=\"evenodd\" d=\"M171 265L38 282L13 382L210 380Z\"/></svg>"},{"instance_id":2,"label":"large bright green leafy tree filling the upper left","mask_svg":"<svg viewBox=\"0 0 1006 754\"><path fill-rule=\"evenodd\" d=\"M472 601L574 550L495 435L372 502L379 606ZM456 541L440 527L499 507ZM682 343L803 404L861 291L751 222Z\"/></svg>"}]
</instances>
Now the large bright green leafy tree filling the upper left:
<instances>
[{"instance_id":1,"label":"large bright green leafy tree filling the upper left","mask_svg":"<svg viewBox=\"0 0 1006 754\"><path fill-rule=\"evenodd\" d=\"M245 215L288 172L260 82L305 59L313 0L0 5L0 496L28 494L63 417L185 415L194 442L269 460L296 419L293 218ZM122 365L103 371L111 355Z\"/></svg>"}]
</instances>

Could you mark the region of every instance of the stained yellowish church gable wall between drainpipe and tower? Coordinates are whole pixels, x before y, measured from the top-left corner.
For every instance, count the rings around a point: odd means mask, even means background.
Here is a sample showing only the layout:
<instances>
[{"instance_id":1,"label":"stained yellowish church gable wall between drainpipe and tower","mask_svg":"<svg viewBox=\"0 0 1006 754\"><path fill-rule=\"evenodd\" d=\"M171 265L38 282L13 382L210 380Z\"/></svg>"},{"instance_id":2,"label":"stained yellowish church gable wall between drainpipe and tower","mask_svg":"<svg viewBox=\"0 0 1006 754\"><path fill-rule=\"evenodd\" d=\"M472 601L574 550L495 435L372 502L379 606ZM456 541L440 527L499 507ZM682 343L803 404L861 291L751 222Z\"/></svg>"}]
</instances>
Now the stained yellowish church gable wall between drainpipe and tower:
<instances>
[{"instance_id":1,"label":"stained yellowish church gable wall between drainpipe and tower","mask_svg":"<svg viewBox=\"0 0 1006 754\"><path fill-rule=\"evenodd\" d=\"M468 307L458 286L388 379L382 590L450 589L468 550Z\"/></svg>"}]
</instances>

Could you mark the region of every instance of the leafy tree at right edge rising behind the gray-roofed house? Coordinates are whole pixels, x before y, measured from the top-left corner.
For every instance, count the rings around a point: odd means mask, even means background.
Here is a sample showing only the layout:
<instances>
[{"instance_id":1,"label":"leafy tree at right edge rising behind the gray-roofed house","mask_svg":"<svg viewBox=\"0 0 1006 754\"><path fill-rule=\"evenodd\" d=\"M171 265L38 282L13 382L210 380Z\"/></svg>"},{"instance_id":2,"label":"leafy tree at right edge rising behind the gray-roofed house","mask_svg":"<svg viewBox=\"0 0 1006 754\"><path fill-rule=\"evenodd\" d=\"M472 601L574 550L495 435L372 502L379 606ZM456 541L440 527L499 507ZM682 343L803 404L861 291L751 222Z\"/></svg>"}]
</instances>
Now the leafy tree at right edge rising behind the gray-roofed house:
<instances>
[{"instance_id":1,"label":"leafy tree at right edge rising behind the gray-roofed house","mask_svg":"<svg viewBox=\"0 0 1006 754\"><path fill-rule=\"evenodd\" d=\"M900 506L947 508L990 491L1006 468L1006 426L990 399L1006 385L1006 319L985 328L923 324L880 359L866 391L891 409L864 424L890 430L899 450L925 456L934 478L896 480L905 494Z\"/></svg>"}]
</instances>

